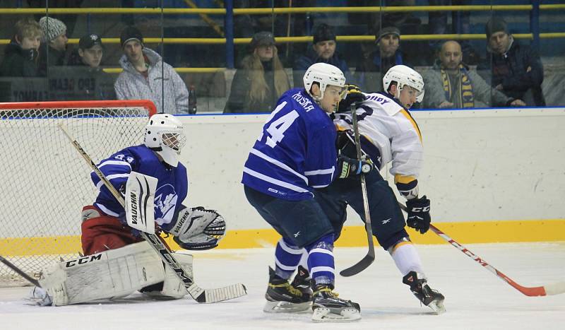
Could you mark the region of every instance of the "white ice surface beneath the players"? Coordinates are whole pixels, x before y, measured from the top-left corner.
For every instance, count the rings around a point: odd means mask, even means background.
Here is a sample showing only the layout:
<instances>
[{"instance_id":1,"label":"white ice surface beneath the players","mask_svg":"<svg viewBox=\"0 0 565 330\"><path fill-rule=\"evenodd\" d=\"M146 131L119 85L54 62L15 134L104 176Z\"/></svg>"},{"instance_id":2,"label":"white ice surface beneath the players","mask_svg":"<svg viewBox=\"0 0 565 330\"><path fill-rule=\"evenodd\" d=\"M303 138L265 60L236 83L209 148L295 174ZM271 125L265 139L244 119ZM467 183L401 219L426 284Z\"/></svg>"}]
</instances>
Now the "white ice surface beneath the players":
<instances>
[{"instance_id":1,"label":"white ice surface beneath the players","mask_svg":"<svg viewBox=\"0 0 565 330\"><path fill-rule=\"evenodd\" d=\"M565 243L467 247L523 286L565 281ZM201 305L190 298L157 302L136 294L119 302L37 307L22 299L30 288L0 288L0 329L565 329L565 294L527 297L451 245L417 249L430 286L446 296L444 314L420 306L382 249L369 269L337 276L340 297L361 305L359 322L314 324L311 313L266 314L263 294L274 249L224 249L195 254L196 282L203 288L241 282L249 290L246 297ZM338 271L365 253L335 249Z\"/></svg>"}]
</instances>

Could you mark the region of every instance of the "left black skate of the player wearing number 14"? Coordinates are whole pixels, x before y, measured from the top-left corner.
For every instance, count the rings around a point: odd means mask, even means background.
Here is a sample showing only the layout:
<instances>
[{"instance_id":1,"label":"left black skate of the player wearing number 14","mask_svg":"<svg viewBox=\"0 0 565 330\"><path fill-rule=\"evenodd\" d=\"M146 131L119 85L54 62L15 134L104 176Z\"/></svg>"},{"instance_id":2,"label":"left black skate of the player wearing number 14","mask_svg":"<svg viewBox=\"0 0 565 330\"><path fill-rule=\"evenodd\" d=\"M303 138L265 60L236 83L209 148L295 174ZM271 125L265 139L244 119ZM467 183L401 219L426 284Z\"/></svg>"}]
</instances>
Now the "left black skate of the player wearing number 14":
<instances>
[{"instance_id":1,"label":"left black skate of the player wearing number 14","mask_svg":"<svg viewBox=\"0 0 565 330\"><path fill-rule=\"evenodd\" d=\"M295 281L300 281L300 279L297 280L295 278ZM265 307L263 307L263 312L292 313L308 310L312 296L311 294L304 295L301 289L290 285L287 280L278 276L269 267L269 284L265 293L265 299L267 302Z\"/></svg>"}]
</instances>

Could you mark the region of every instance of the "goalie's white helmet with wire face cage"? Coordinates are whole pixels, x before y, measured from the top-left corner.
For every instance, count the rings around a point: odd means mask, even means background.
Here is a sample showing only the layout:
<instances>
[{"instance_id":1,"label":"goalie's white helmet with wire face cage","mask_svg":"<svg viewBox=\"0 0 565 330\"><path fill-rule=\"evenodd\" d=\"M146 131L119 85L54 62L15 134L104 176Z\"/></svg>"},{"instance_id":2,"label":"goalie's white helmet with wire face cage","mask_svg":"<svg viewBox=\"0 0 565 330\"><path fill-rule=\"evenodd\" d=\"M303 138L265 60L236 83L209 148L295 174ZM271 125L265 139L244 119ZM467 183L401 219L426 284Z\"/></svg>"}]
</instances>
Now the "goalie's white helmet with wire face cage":
<instances>
[{"instance_id":1,"label":"goalie's white helmet with wire face cage","mask_svg":"<svg viewBox=\"0 0 565 330\"><path fill-rule=\"evenodd\" d=\"M182 122L172 114L153 114L145 126L145 146L173 167L179 164L179 155L185 143Z\"/></svg>"}]
</instances>

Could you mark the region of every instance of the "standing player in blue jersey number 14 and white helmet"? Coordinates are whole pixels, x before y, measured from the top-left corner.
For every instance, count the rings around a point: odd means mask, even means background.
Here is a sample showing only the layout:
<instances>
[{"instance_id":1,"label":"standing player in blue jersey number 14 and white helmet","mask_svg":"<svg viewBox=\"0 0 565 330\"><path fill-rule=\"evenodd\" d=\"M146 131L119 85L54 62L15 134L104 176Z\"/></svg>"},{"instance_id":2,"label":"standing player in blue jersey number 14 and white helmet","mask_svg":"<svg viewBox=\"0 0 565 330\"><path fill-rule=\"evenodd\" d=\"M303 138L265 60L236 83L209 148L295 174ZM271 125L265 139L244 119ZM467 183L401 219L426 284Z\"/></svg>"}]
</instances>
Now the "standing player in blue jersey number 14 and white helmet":
<instances>
[{"instance_id":1,"label":"standing player in blue jersey number 14 and white helmet","mask_svg":"<svg viewBox=\"0 0 565 330\"><path fill-rule=\"evenodd\" d=\"M314 200L314 189L327 187L338 173L357 173L355 161L338 161L336 130L328 115L337 110L344 85L345 76L337 67L310 66L304 88L280 97L244 165L246 198L282 236L275 249L275 269L269 269L266 312L296 312L312 304L314 321L360 318L357 303L333 293L335 233ZM314 293L304 269L289 283L303 251Z\"/></svg>"}]
</instances>

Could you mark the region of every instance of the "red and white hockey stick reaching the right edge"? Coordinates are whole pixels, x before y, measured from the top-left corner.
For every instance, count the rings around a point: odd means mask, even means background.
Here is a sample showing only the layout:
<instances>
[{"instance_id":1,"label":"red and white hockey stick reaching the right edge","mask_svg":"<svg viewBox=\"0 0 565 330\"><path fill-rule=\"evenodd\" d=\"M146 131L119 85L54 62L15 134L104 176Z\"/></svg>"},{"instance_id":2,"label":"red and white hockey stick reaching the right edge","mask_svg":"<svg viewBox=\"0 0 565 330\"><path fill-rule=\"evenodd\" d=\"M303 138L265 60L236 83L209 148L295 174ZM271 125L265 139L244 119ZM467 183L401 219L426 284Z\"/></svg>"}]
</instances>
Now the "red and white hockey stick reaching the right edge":
<instances>
[{"instance_id":1,"label":"red and white hockey stick reaching the right edge","mask_svg":"<svg viewBox=\"0 0 565 330\"><path fill-rule=\"evenodd\" d=\"M408 208L406 208L405 205L400 204L400 203L398 203L398 205L400 206L400 208L403 209L403 211L408 211ZM535 287L531 287L531 288L528 288L526 286L522 286L522 285L512 281L511 278L504 275L504 273L502 273L498 269L496 269L493 266L491 266L490 264L488 264L487 261L484 261L484 259L477 256L477 254L470 252L466 247L463 247L463 245L456 242L456 240L453 240L453 238L446 235L445 232L442 232L441 230L436 228L436 226L430 224L429 229L431 229L432 232L435 232L436 235L438 235L439 237L446 240L449 244L451 244L454 247L456 247L457 249L459 249L459 251L463 252L465 255L467 255L467 257L477 261L481 266L488 269L491 273L494 273L494 275L501 278L502 281L509 283L512 286L512 288L515 288L516 290L520 291L524 295L527 295L528 297L538 297L538 296L543 296L543 295L559 295L561 293L565 293L565 281L552 283L552 284L548 284L548 285L543 285L543 286L535 286Z\"/></svg>"}]
</instances>

